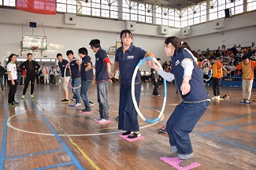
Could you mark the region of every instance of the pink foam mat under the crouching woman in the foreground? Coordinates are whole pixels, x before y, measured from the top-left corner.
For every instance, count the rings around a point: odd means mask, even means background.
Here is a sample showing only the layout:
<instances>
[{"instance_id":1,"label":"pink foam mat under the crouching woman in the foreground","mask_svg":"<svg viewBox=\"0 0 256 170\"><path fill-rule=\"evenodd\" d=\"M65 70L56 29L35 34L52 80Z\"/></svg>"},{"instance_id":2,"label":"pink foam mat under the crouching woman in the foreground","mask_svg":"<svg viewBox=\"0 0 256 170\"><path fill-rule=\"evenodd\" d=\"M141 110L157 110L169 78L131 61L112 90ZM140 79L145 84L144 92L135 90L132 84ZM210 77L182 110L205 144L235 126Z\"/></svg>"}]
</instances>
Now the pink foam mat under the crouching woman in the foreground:
<instances>
[{"instance_id":1,"label":"pink foam mat under the crouching woman in the foreground","mask_svg":"<svg viewBox=\"0 0 256 170\"><path fill-rule=\"evenodd\" d=\"M176 168L178 170L188 170L201 166L201 164L193 162L192 164L187 165L186 167L181 167L180 163L182 162L182 160L180 160L178 157L160 157L160 160L164 161L165 163L173 166L173 168Z\"/></svg>"}]
</instances>

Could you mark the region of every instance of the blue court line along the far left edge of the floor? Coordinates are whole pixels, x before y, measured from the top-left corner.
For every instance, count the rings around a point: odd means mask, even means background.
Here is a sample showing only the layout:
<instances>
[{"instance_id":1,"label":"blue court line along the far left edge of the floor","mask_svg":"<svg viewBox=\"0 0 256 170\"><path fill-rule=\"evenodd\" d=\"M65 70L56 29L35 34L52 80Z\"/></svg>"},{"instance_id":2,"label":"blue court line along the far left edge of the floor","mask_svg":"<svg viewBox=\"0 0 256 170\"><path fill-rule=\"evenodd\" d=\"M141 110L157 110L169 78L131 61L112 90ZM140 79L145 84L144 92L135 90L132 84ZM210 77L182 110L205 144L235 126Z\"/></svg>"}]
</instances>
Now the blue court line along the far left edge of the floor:
<instances>
[{"instance_id":1,"label":"blue court line along the far left edge of the floor","mask_svg":"<svg viewBox=\"0 0 256 170\"><path fill-rule=\"evenodd\" d=\"M4 169L4 163L5 163L5 156L6 156L6 137L7 137L7 120L9 116L9 106L6 105L6 116L5 116L5 122L3 126L2 131L2 146L1 146L1 153L0 153L0 170Z\"/></svg>"}]
</instances>

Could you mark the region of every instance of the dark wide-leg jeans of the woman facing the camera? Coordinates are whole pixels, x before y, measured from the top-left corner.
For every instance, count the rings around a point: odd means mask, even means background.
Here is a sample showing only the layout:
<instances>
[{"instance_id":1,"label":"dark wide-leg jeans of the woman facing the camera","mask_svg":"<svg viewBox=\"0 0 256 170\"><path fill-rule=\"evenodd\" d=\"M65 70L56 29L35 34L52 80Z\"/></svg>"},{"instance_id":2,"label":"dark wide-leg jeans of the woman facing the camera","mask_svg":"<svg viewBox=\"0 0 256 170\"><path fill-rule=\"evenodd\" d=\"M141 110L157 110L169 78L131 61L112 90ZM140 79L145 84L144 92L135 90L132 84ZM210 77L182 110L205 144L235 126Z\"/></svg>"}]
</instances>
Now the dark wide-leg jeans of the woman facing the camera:
<instances>
[{"instance_id":1,"label":"dark wide-leg jeans of the woman facing the camera","mask_svg":"<svg viewBox=\"0 0 256 170\"><path fill-rule=\"evenodd\" d=\"M141 84L135 84L135 99L139 106ZM132 102L132 85L121 83L119 100L118 129L124 131L139 131L138 114Z\"/></svg>"}]
</instances>

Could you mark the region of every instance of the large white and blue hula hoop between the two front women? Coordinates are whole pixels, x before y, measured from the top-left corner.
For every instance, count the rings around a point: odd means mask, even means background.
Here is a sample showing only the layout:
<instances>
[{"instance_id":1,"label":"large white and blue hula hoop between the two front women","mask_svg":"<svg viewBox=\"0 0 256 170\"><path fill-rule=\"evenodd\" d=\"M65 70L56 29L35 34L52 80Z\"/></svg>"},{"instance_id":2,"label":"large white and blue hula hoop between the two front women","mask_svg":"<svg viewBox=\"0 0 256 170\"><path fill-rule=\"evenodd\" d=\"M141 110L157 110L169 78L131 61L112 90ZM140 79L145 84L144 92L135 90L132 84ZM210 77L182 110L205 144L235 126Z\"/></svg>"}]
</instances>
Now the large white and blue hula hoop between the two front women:
<instances>
[{"instance_id":1,"label":"large white and blue hula hoop between the two front women","mask_svg":"<svg viewBox=\"0 0 256 170\"><path fill-rule=\"evenodd\" d=\"M161 112L159 113L159 116L156 119L154 119L154 120L147 120L143 116L143 114L140 113L139 108L138 108L138 104L137 104L136 99L135 99L135 77L136 77L137 72L139 70L139 66L142 65L144 61L148 61L148 60L153 60L155 63L157 63L158 67L161 68L161 64L154 57L145 57L145 58L143 58L143 60L139 61L138 65L136 65L135 70L134 70L133 75L132 75L132 102L133 102L133 105L134 105L138 115L144 121L146 121L147 123L153 124L153 123L159 121L160 119L163 119L163 117L164 117L163 113L164 113L165 104L166 104L166 96L167 96L167 90L166 89L167 88L166 88L166 81L164 79L164 102L163 102L163 105L162 105L162 108L161 108Z\"/></svg>"}]
</instances>

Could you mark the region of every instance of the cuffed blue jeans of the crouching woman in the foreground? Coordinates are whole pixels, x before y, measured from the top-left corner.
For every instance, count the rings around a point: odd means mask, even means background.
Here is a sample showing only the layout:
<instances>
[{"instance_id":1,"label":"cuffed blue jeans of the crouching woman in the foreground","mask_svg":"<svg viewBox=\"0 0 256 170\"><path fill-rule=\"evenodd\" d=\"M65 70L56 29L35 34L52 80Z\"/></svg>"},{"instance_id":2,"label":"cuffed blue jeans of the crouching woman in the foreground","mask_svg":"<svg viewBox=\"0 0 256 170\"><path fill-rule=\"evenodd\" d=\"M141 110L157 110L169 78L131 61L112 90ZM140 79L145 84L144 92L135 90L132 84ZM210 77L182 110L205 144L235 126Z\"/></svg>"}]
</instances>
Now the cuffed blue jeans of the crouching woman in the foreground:
<instances>
[{"instance_id":1,"label":"cuffed blue jeans of the crouching woman in the foreground","mask_svg":"<svg viewBox=\"0 0 256 170\"><path fill-rule=\"evenodd\" d=\"M180 159L194 157L189 133L195 127L195 124L206 112L210 102L181 102L176 106L173 114L167 121L166 127L171 144L171 152L178 152Z\"/></svg>"}]
</instances>

